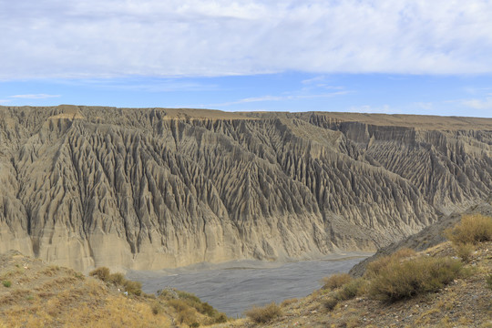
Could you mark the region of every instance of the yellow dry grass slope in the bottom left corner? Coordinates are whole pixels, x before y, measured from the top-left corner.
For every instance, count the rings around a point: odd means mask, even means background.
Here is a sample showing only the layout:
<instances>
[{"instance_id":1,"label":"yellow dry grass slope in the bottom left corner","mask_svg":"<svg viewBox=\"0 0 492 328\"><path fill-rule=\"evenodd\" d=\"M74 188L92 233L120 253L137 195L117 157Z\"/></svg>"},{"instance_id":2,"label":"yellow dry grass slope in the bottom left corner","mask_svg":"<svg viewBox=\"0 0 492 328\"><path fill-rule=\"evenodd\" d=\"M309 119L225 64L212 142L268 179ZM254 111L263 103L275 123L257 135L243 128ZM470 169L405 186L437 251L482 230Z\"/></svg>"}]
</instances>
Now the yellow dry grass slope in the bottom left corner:
<instances>
[{"instance_id":1,"label":"yellow dry grass slope in the bottom left corner","mask_svg":"<svg viewBox=\"0 0 492 328\"><path fill-rule=\"evenodd\" d=\"M0 292L0 327L170 326L169 314L155 313L147 299L81 273L19 254L0 255L0 262L0 275L12 281Z\"/></svg>"}]
</instances>

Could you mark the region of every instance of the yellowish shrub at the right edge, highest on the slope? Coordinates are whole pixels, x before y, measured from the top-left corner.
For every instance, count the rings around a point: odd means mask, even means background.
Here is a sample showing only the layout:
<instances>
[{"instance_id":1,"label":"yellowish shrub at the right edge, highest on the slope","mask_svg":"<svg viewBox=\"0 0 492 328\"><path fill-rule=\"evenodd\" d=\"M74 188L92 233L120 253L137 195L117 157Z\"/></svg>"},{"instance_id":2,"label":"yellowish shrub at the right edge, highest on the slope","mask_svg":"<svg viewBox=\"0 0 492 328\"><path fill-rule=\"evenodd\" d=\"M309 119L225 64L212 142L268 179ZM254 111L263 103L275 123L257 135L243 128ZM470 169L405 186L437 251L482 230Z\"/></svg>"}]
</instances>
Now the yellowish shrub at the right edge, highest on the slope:
<instances>
[{"instance_id":1,"label":"yellowish shrub at the right edge, highest on the slope","mask_svg":"<svg viewBox=\"0 0 492 328\"><path fill-rule=\"evenodd\" d=\"M454 244L492 241L492 218L482 214L464 215L454 228L445 231Z\"/></svg>"}]
</instances>

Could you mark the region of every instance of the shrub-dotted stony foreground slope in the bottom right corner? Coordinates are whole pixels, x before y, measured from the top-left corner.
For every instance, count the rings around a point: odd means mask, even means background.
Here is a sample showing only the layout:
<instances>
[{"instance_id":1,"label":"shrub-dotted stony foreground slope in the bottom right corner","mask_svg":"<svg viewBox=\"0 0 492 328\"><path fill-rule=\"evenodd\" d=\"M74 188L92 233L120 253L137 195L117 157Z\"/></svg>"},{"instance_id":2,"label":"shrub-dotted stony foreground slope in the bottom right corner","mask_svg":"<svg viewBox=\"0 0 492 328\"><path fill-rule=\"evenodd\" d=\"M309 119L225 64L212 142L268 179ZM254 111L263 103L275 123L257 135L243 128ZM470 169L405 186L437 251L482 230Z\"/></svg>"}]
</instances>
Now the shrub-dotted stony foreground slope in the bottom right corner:
<instances>
[{"instance_id":1,"label":"shrub-dotted stony foreground slope in the bottom right corner","mask_svg":"<svg viewBox=\"0 0 492 328\"><path fill-rule=\"evenodd\" d=\"M216 327L491 327L491 214L488 200L378 251L358 278L335 274L305 298Z\"/></svg>"}]
</instances>

